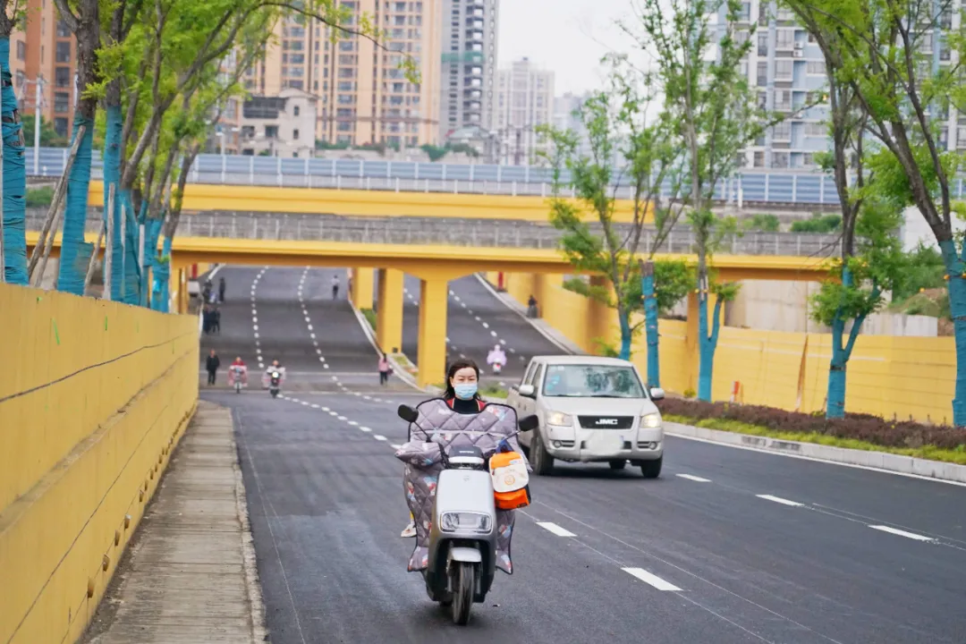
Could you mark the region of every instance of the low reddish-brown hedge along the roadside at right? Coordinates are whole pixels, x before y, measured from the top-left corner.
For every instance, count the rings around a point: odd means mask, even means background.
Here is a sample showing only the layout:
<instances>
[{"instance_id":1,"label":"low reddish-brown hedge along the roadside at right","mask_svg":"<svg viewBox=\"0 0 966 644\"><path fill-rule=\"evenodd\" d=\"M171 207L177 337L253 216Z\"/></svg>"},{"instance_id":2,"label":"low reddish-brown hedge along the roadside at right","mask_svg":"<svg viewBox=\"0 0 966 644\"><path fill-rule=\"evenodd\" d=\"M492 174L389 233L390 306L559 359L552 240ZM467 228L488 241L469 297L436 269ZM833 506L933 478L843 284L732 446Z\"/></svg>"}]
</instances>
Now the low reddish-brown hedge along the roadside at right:
<instances>
[{"instance_id":1,"label":"low reddish-brown hedge along the roadside at right","mask_svg":"<svg viewBox=\"0 0 966 644\"><path fill-rule=\"evenodd\" d=\"M846 414L840 420L823 416L785 411L774 407L702 403L694 400L666 398L658 403L664 414L686 416L696 420L725 418L780 432L826 434L838 438L856 438L886 447L919 448L934 445L955 449L966 445L966 431L948 425L922 425L909 421L888 421L868 414Z\"/></svg>"}]
</instances>

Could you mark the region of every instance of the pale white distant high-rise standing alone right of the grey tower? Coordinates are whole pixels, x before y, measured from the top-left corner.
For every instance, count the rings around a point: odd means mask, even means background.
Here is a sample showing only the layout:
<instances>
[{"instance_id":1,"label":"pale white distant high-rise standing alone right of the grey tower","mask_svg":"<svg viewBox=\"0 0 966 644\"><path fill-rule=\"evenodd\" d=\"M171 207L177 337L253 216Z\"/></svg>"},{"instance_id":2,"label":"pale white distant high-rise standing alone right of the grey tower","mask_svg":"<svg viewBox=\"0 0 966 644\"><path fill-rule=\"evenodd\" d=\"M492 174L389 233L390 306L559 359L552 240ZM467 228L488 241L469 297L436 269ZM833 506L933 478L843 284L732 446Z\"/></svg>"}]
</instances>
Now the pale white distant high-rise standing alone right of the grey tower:
<instances>
[{"instance_id":1,"label":"pale white distant high-rise standing alone right of the grey tower","mask_svg":"<svg viewBox=\"0 0 966 644\"><path fill-rule=\"evenodd\" d=\"M554 72L541 70L528 59L497 71L497 162L528 165L539 162L545 149L537 126L553 123Z\"/></svg>"}]
</instances>

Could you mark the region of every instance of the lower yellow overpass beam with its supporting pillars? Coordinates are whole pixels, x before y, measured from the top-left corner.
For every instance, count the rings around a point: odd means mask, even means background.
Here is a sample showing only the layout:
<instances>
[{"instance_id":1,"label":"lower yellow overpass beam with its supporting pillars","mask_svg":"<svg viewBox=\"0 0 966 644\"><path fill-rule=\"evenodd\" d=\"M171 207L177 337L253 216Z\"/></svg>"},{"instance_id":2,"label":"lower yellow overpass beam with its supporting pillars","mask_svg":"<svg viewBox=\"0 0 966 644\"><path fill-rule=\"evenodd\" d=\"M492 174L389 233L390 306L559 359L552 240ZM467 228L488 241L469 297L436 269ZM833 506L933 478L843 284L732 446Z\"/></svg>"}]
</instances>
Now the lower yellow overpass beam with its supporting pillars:
<instances>
[{"instance_id":1,"label":"lower yellow overpass beam with its supporting pillars","mask_svg":"<svg viewBox=\"0 0 966 644\"><path fill-rule=\"evenodd\" d=\"M28 250L38 233L27 233ZM88 240L96 242L93 234ZM60 249L54 238L52 255ZM663 255L689 260L688 255ZM359 308L378 302L377 336L384 350L402 346L403 274L421 280L419 341L416 362L419 383L438 381L445 370L448 283L475 272L531 274L537 292L551 280L574 272L556 249L451 246L444 244L388 244L325 240L175 238L172 252L171 294L177 310L187 311L190 267L217 263L248 266L334 266L354 268L353 300ZM719 255L714 266L722 279L817 281L828 267L809 257ZM379 293L374 293L374 270L379 271Z\"/></svg>"}]
</instances>

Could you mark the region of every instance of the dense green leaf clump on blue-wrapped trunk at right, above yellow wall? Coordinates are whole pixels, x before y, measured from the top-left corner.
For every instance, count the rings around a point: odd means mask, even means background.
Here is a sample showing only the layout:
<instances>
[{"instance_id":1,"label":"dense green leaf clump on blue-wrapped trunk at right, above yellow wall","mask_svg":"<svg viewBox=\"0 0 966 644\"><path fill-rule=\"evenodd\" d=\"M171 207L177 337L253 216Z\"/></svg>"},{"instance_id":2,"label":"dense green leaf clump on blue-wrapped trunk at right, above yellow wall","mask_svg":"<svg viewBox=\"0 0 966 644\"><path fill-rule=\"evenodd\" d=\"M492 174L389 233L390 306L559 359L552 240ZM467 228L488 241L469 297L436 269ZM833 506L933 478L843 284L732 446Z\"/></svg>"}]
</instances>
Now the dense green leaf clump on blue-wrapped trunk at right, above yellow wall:
<instances>
[{"instance_id":1,"label":"dense green leaf clump on blue-wrapped trunk at right, above yellow wall","mask_svg":"<svg viewBox=\"0 0 966 644\"><path fill-rule=\"evenodd\" d=\"M884 304L883 293L901 282L906 266L895 229L902 212L888 202L867 199L856 219L856 252L838 266L838 281L824 282L811 297L812 320L831 326L836 319L861 323Z\"/></svg>"}]
</instances>

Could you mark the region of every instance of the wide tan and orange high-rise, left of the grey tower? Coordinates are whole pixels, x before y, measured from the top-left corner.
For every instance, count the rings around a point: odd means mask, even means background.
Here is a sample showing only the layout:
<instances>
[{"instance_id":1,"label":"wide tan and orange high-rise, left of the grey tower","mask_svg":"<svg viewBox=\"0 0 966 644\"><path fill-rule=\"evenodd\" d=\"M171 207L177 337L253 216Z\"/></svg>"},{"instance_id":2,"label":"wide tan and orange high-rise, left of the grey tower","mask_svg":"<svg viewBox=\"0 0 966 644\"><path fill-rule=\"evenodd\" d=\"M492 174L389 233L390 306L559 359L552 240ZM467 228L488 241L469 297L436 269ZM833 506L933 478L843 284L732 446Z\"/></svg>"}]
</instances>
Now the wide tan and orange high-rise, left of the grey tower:
<instances>
[{"instance_id":1,"label":"wide tan and orange high-rise, left of the grey tower","mask_svg":"<svg viewBox=\"0 0 966 644\"><path fill-rule=\"evenodd\" d=\"M332 144L411 147L440 137L440 16L443 0L343 0L372 16L385 32L385 48L340 34L302 16L275 28L276 43L245 76L253 94L278 96L302 90L319 99L316 135ZM406 78L400 63L411 56L419 83Z\"/></svg>"}]
</instances>

